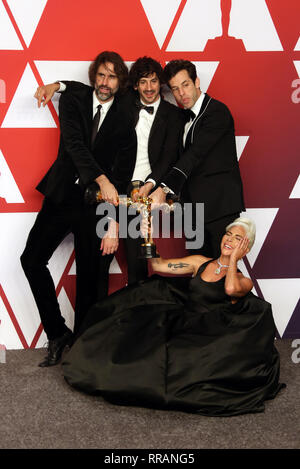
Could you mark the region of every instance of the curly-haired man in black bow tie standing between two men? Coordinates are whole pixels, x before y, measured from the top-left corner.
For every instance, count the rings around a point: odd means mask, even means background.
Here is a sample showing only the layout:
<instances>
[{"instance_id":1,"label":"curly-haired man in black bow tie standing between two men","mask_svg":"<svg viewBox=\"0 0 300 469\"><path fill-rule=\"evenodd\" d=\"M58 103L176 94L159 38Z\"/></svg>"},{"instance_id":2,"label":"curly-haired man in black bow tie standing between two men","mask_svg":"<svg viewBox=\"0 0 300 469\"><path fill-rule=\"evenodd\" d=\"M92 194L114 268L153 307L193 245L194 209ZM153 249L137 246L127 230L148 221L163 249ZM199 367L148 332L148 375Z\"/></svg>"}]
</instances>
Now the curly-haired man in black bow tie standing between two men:
<instances>
[{"instance_id":1,"label":"curly-haired man in black bow tie standing between two men","mask_svg":"<svg viewBox=\"0 0 300 469\"><path fill-rule=\"evenodd\" d=\"M135 123L137 153L132 180L142 186L140 196L149 193L161 182L164 174L179 158L183 115L181 110L164 100L161 89L164 83L163 69L151 57L140 57L129 70L127 108ZM128 283L142 280L148 275L147 262L139 259L142 238L125 239L128 265Z\"/></svg>"}]
</instances>

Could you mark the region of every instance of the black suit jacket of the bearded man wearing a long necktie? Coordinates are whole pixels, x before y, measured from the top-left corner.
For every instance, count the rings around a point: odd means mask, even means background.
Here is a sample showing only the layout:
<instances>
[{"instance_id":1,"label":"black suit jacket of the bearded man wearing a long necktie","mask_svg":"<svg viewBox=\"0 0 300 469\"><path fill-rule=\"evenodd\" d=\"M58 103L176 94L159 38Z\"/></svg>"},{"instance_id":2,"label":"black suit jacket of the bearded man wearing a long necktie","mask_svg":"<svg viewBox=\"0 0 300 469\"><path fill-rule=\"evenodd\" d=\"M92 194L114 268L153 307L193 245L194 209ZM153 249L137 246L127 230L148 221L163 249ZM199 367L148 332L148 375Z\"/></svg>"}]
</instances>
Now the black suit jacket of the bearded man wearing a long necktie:
<instances>
[{"instance_id":1,"label":"black suit jacket of the bearded man wearing a long necktie","mask_svg":"<svg viewBox=\"0 0 300 469\"><path fill-rule=\"evenodd\" d=\"M116 96L91 146L93 88L68 89L59 101L61 137L58 156L37 189L59 203L79 178L85 187L105 174L119 193L126 193L135 163L135 132Z\"/></svg>"}]
</instances>

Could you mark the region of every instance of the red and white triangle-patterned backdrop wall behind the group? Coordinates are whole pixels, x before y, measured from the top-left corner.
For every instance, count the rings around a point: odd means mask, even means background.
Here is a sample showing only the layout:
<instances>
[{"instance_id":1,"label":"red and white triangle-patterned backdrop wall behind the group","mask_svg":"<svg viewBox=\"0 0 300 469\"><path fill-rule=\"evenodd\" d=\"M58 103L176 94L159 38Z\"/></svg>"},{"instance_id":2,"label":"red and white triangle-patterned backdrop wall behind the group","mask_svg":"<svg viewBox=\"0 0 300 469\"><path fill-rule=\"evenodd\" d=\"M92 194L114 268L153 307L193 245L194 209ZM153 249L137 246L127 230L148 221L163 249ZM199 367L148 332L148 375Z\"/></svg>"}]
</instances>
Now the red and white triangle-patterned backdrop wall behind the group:
<instances>
[{"instance_id":1,"label":"red and white triangle-patterned backdrop wall behind the group","mask_svg":"<svg viewBox=\"0 0 300 469\"><path fill-rule=\"evenodd\" d=\"M201 89L228 105L247 214L257 223L241 267L272 303L278 337L300 337L299 17L299 0L0 1L0 344L46 342L19 258L42 202L34 188L56 158L59 97L38 109L33 94L58 79L88 83L88 65L103 50L129 66L144 55L163 66L192 60ZM160 251L180 256L184 243L161 241ZM72 236L49 268L72 326ZM121 245L110 292L126 275Z\"/></svg>"}]
</instances>

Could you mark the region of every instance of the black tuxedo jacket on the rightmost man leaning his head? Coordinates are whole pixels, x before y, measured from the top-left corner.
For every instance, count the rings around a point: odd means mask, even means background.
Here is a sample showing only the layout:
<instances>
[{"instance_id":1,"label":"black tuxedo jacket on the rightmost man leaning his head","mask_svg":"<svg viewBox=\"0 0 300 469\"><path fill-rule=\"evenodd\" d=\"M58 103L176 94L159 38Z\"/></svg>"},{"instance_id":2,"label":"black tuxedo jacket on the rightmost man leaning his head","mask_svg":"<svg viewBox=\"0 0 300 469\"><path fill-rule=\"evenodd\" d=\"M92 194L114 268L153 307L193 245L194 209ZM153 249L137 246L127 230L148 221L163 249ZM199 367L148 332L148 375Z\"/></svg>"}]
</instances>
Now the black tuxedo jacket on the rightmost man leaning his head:
<instances>
[{"instance_id":1,"label":"black tuxedo jacket on the rightmost man leaning his head","mask_svg":"<svg viewBox=\"0 0 300 469\"><path fill-rule=\"evenodd\" d=\"M205 95L183 153L162 181L183 201L204 202L206 223L244 210L234 122L225 104Z\"/></svg>"}]
</instances>

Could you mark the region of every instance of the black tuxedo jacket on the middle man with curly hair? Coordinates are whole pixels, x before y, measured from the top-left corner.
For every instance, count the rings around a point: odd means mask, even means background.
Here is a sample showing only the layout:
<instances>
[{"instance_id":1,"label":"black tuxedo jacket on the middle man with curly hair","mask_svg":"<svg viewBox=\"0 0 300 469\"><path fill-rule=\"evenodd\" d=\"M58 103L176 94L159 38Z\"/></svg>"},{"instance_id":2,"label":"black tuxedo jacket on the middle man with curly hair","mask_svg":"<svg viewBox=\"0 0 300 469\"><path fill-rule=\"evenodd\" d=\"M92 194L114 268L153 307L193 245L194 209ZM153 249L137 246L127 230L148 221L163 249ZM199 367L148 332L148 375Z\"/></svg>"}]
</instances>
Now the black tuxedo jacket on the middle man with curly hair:
<instances>
[{"instance_id":1,"label":"black tuxedo jacket on the middle man with curly hair","mask_svg":"<svg viewBox=\"0 0 300 469\"><path fill-rule=\"evenodd\" d=\"M123 99L135 125L139 113L135 103L139 101L139 95L128 91ZM149 135L148 157L151 173L146 179L154 179L156 184L159 184L162 176L167 174L178 160L182 151L184 123L181 110L161 98Z\"/></svg>"}]
</instances>

